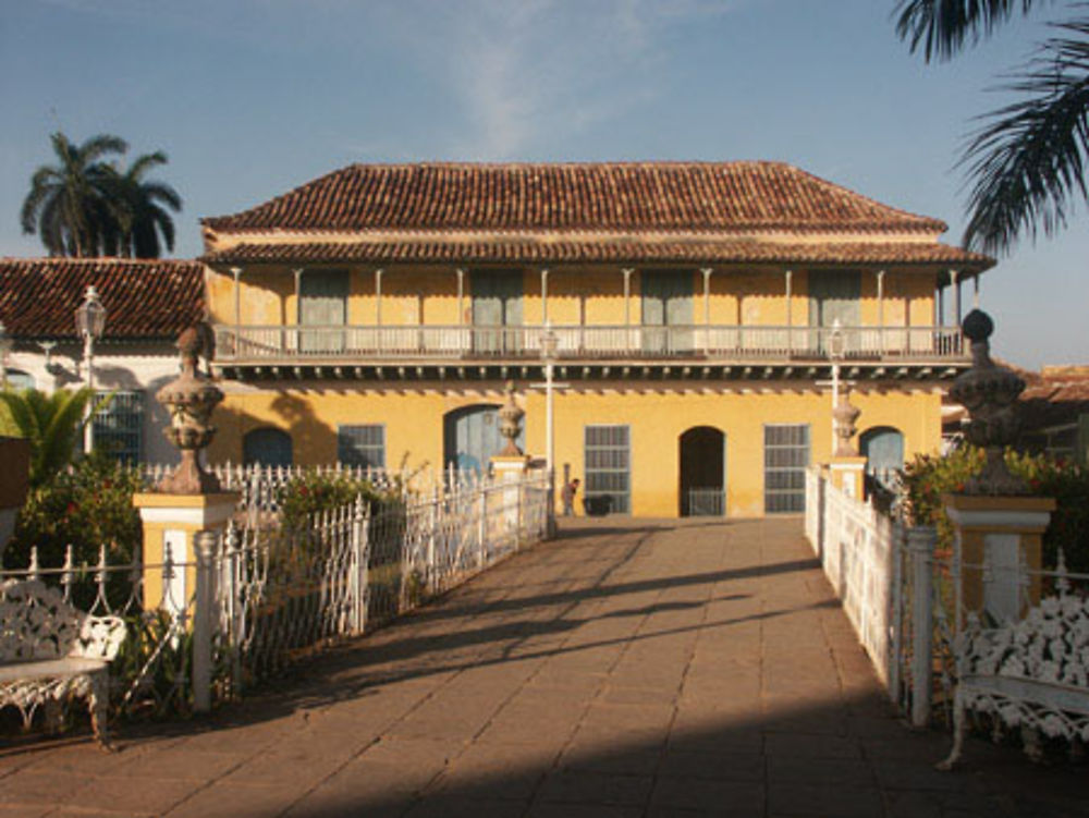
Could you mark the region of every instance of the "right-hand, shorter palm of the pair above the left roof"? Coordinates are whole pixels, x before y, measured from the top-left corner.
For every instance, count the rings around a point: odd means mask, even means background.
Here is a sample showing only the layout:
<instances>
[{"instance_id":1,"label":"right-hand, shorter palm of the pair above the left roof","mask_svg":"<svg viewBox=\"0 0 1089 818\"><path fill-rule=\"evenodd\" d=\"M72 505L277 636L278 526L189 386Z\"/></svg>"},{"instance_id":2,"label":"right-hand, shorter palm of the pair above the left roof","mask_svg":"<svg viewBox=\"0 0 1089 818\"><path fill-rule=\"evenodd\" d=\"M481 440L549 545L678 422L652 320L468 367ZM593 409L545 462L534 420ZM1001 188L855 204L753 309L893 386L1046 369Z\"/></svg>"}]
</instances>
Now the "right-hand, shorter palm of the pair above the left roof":
<instances>
[{"instance_id":1,"label":"right-hand, shorter palm of the pair above the left roof","mask_svg":"<svg viewBox=\"0 0 1089 818\"><path fill-rule=\"evenodd\" d=\"M164 182L144 180L149 170L167 161L167 155L157 150L138 157L124 173L110 169L110 192L120 229L118 255L158 258L163 245L174 249L174 222L168 208L179 212L182 197Z\"/></svg>"}]
</instances>

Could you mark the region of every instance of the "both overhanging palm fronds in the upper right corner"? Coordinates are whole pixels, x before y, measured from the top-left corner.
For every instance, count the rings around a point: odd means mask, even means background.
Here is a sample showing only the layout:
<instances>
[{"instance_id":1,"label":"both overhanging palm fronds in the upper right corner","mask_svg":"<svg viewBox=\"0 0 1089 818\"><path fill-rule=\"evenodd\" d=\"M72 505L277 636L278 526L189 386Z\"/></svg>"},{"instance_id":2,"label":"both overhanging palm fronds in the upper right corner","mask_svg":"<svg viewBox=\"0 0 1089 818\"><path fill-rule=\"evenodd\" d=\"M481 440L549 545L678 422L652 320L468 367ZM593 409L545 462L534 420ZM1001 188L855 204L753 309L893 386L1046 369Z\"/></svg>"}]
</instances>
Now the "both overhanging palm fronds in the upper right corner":
<instances>
[{"instance_id":1,"label":"both overhanging palm fronds in the upper right corner","mask_svg":"<svg viewBox=\"0 0 1089 818\"><path fill-rule=\"evenodd\" d=\"M1038 0L898 0L896 33L925 59L947 60ZM1019 99L986 114L960 156L970 194L965 246L1008 252L1017 239L1066 227L1089 198L1089 7L1052 24L1032 58L1000 86Z\"/></svg>"}]
</instances>

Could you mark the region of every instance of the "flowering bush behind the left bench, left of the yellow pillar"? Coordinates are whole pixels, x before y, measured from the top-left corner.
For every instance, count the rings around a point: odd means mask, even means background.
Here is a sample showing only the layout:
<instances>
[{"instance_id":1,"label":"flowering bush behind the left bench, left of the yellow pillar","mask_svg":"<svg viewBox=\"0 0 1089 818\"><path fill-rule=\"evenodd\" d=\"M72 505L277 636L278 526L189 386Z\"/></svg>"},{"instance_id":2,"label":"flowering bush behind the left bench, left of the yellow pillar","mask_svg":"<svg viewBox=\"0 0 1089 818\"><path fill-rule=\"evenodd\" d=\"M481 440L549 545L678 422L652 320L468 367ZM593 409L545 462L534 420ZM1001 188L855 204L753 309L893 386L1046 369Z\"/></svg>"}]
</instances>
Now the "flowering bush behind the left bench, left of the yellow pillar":
<instances>
[{"instance_id":1,"label":"flowering bush behind the left bench, left of the yellow pillar","mask_svg":"<svg viewBox=\"0 0 1089 818\"><path fill-rule=\"evenodd\" d=\"M133 493L139 474L95 453L30 489L15 535L3 552L5 567L25 567L38 547L42 567L59 567L71 545L76 564L98 562L106 546L111 563L125 563L139 549L139 513Z\"/></svg>"}]
</instances>

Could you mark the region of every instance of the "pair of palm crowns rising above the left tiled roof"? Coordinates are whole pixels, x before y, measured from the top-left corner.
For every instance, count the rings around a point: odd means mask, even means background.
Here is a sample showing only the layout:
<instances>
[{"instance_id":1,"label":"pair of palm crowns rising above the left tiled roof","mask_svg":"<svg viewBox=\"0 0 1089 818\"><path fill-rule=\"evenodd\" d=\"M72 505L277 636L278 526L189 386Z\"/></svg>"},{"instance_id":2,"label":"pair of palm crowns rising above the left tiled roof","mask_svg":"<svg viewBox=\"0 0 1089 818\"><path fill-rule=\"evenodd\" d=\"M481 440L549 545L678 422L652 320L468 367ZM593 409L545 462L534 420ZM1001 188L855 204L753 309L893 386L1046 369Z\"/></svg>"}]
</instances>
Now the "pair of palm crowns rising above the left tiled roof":
<instances>
[{"instance_id":1,"label":"pair of palm crowns rising above the left tiled roof","mask_svg":"<svg viewBox=\"0 0 1089 818\"><path fill-rule=\"evenodd\" d=\"M166 154L139 156L123 169L117 162L129 144L119 136L75 145L58 131L50 141L57 163L34 172L21 212L23 232L37 233L49 255L158 258L163 246L174 248L170 211L181 210L181 196L146 179L167 163Z\"/></svg>"}]
</instances>

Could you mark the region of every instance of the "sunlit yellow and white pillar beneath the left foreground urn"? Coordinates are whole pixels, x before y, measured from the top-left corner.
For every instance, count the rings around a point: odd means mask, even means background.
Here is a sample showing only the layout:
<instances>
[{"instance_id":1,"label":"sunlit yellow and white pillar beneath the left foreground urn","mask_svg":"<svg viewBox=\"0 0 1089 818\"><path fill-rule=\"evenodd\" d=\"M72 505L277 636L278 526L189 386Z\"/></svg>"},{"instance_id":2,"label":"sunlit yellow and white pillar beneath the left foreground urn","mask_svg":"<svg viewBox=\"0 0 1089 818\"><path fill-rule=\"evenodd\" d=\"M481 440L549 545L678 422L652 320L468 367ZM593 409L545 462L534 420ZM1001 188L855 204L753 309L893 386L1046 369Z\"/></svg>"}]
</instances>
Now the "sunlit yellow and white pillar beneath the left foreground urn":
<instances>
[{"instance_id":1,"label":"sunlit yellow and white pillar beneath the left foreground urn","mask_svg":"<svg viewBox=\"0 0 1089 818\"><path fill-rule=\"evenodd\" d=\"M188 607L196 588L197 532L222 530L234 513L241 496L235 491L216 495L139 493L133 505L139 511L144 527L143 564L144 608L163 608L179 612ZM167 549L174 564L183 563L166 582L163 562Z\"/></svg>"}]
</instances>

